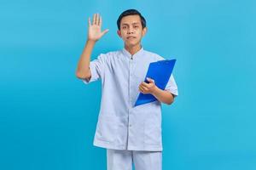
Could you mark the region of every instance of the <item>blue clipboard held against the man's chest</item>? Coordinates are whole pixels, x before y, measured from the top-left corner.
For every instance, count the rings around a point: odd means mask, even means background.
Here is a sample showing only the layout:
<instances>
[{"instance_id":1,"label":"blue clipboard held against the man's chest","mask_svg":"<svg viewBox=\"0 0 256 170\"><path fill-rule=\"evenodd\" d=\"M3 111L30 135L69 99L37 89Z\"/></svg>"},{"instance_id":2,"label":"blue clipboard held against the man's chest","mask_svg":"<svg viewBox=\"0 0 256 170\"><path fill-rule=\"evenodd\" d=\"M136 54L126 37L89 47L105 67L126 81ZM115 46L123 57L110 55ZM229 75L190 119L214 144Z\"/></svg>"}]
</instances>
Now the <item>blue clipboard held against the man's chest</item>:
<instances>
[{"instance_id":1,"label":"blue clipboard held against the man's chest","mask_svg":"<svg viewBox=\"0 0 256 170\"><path fill-rule=\"evenodd\" d=\"M169 81L172 70L175 65L176 59L164 59L150 63L148 65L147 75L144 82L147 82L147 77L154 79L155 85L164 90L166 88L167 82ZM142 94L140 93L137 97L137 101L134 106L143 105L150 102L154 102L157 99L152 94Z\"/></svg>"}]
</instances>

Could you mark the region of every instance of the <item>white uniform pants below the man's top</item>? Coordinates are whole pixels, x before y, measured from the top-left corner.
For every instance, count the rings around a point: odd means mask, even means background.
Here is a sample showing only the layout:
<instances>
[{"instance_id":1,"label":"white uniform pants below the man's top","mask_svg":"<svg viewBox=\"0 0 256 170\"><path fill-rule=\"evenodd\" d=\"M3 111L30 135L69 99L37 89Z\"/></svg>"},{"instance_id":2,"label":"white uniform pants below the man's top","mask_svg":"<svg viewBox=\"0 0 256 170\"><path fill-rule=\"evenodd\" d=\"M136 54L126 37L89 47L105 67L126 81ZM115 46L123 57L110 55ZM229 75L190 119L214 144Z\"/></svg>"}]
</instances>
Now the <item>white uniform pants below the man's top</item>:
<instances>
[{"instance_id":1,"label":"white uniform pants below the man's top","mask_svg":"<svg viewBox=\"0 0 256 170\"><path fill-rule=\"evenodd\" d=\"M162 151L107 149L108 170L162 170Z\"/></svg>"}]
</instances>

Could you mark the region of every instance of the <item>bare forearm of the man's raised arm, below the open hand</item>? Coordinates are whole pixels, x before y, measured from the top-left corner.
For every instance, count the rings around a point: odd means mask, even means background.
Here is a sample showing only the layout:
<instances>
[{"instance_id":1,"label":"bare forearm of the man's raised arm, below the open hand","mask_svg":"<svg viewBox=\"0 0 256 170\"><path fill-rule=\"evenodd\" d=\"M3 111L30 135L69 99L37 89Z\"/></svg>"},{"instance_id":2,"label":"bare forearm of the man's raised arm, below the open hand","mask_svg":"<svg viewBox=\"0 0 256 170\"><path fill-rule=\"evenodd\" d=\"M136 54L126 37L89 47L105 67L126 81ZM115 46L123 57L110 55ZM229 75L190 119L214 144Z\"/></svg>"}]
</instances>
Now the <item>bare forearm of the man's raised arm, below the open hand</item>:
<instances>
[{"instance_id":1,"label":"bare forearm of the man's raised arm, below the open hand","mask_svg":"<svg viewBox=\"0 0 256 170\"><path fill-rule=\"evenodd\" d=\"M79 59L79 65L77 68L77 77L84 78L90 75L90 55L95 46L96 41L87 40L83 53Z\"/></svg>"}]
</instances>

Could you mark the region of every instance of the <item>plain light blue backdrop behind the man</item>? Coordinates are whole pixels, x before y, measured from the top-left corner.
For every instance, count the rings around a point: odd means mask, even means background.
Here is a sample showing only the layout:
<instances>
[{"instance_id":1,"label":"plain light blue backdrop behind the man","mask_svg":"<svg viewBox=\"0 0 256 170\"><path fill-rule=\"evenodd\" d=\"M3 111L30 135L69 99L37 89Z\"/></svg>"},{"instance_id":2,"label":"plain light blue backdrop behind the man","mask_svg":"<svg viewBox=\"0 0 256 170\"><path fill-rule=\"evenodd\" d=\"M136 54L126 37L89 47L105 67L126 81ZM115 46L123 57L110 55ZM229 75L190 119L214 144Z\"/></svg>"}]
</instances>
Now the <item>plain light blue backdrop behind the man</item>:
<instances>
[{"instance_id":1,"label":"plain light blue backdrop behind the man","mask_svg":"<svg viewBox=\"0 0 256 170\"><path fill-rule=\"evenodd\" d=\"M75 77L87 18L107 35L92 59L123 48L116 20L137 8L143 48L177 59L179 96L163 105L163 169L256 169L253 0L7 1L0 4L0 169L106 169L92 145L101 84Z\"/></svg>"}]
</instances>

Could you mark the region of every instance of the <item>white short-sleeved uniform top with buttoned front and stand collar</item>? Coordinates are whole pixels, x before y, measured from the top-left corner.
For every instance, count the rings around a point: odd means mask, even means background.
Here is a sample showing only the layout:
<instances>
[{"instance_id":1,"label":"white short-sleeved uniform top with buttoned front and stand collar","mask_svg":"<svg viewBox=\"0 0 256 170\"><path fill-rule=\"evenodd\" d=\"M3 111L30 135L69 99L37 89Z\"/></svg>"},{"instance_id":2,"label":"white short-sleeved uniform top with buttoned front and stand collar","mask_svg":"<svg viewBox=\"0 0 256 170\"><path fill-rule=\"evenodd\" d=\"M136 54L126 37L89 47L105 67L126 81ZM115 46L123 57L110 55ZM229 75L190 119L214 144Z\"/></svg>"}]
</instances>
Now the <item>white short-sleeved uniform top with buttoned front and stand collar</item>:
<instances>
[{"instance_id":1,"label":"white short-sleeved uniform top with buttoned front and stand collar","mask_svg":"<svg viewBox=\"0 0 256 170\"><path fill-rule=\"evenodd\" d=\"M149 63L162 59L143 48L134 55L123 48L100 54L90 61L90 81L83 79L83 82L102 80L95 146L114 150L163 150L160 101L134 107L140 93L139 84L145 79ZM173 76L166 90L177 95Z\"/></svg>"}]
</instances>

